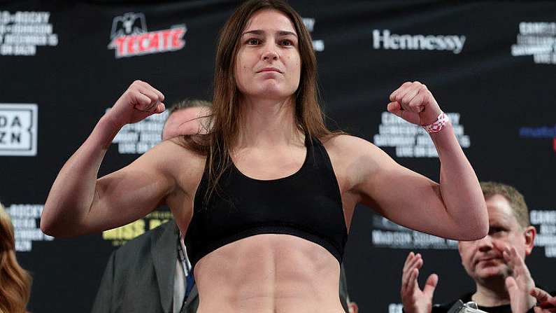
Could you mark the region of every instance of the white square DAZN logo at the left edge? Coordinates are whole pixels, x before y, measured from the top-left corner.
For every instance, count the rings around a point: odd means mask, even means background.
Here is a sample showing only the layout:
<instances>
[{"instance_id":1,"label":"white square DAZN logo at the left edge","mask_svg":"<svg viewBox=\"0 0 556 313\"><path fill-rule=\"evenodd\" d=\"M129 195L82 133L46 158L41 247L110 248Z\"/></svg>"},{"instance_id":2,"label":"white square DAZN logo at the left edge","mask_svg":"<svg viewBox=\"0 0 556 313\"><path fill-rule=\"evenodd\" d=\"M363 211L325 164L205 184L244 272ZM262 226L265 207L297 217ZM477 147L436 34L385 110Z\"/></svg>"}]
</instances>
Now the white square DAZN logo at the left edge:
<instances>
[{"instance_id":1,"label":"white square DAZN logo at the left edge","mask_svg":"<svg viewBox=\"0 0 556 313\"><path fill-rule=\"evenodd\" d=\"M36 155L38 106L0 104L0 155Z\"/></svg>"}]
</instances>

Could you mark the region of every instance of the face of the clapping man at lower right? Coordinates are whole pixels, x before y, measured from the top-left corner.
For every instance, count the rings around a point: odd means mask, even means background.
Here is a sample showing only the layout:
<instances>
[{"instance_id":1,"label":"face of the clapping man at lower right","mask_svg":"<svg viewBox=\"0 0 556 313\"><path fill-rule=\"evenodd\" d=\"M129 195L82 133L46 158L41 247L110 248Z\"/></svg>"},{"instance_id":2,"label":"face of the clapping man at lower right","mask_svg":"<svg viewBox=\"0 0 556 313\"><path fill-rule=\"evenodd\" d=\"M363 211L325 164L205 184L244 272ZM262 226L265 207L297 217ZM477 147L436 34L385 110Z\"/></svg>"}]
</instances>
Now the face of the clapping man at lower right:
<instances>
[{"instance_id":1,"label":"face of the clapping man at lower right","mask_svg":"<svg viewBox=\"0 0 556 313\"><path fill-rule=\"evenodd\" d=\"M458 244L462 265L475 281L511 274L502 251L513 246L525 259L533 249L535 235L532 226L524 229L519 225L506 197L493 195L486 200L486 204L490 225L488 235L483 239Z\"/></svg>"}]
</instances>

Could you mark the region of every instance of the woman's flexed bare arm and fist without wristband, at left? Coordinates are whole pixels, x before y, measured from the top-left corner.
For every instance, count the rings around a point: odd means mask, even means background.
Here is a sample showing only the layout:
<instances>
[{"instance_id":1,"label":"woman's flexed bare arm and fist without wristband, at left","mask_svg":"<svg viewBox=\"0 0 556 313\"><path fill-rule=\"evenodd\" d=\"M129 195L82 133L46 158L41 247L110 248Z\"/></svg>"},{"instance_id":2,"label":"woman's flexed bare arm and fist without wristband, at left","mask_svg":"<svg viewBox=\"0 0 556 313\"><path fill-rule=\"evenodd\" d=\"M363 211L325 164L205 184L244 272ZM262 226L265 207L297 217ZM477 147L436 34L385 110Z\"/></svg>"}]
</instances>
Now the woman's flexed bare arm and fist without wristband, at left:
<instances>
[{"instance_id":1,"label":"woman's flexed bare arm and fist without wristband, at left","mask_svg":"<svg viewBox=\"0 0 556 313\"><path fill-rule=\"evenodd\" d=\"M117 132L164 111L163 101L164 95L148 83L135 81L129 86L60 170L43 209L43 232L69 237L114 228L141 218L164 200L175 186L160 159L169 142L97 179Z\"/></svg>"}]
</instances>

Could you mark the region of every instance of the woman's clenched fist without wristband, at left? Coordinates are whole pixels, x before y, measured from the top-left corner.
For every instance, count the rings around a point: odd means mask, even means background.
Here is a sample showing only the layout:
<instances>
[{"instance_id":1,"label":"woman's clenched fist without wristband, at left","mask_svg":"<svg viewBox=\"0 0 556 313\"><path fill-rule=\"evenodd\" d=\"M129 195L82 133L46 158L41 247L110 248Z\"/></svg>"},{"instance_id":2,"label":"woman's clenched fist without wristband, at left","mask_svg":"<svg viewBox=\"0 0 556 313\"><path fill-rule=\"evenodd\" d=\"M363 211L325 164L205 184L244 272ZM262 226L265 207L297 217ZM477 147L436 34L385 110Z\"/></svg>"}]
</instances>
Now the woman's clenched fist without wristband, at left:
<instances>
[{"instance_id":1,"label":"woman's clenched fist without wristband, at left","mask_svg":"<svg viewBox=\"0 0 556 313\"><path fill-rule=\"evenodd\" d=\"M164 112L164 95L144 81L134 81L107 115L116 125L137 123L155 113Z\"/></svg>"}]
</instances>

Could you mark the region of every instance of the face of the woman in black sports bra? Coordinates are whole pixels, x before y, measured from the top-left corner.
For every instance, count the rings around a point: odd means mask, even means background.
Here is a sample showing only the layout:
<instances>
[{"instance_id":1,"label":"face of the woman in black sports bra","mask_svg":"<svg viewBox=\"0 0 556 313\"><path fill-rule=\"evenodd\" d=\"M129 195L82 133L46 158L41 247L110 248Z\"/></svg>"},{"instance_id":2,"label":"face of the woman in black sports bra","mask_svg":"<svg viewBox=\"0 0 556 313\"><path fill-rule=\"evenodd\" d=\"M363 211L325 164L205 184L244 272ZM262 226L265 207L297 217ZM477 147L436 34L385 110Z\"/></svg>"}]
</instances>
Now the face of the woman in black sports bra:
<instances>
[{"instance_id":1,"label":"face of the woman in black sports bra","mask_svg":"<svg viewBox=\"0 0 556 313\"><path fill-rule=\"evenodd\" d=\"M301 57L294 25L276 10L255 12L240 37L235 77L247 97L283 99L299 86Z\"/></svg>"}]
</instances>

